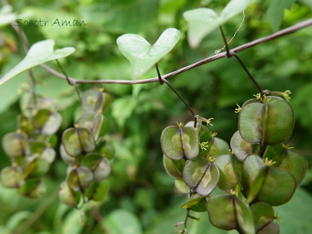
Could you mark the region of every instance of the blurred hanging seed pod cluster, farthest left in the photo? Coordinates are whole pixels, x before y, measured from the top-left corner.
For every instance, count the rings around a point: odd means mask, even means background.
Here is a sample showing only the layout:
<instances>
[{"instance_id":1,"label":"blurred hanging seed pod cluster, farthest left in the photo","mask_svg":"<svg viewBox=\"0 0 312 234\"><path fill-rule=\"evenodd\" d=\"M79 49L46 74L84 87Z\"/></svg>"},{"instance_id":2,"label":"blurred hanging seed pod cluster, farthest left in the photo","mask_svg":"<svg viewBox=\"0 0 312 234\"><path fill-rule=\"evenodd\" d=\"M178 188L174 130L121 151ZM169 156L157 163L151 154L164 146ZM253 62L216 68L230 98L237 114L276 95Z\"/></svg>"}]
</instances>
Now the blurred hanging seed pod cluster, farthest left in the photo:
<instances>
[{"instance_id":1,"label":"blurred hanging seed pod cluster, farthest left in the photo","mask_svg":"<svg viewBox=\"0 0 312 234\"><path fill-rule=\"evenodd\" d=\"M18 116L18 129L2 138L2 147L11 166L1 170L0 181L8 188L18 188L21 195L41 197L46 186L43 176L55 159L55 133L62 122L51 98L25 94Z\"/></svg>"}]
</instances>

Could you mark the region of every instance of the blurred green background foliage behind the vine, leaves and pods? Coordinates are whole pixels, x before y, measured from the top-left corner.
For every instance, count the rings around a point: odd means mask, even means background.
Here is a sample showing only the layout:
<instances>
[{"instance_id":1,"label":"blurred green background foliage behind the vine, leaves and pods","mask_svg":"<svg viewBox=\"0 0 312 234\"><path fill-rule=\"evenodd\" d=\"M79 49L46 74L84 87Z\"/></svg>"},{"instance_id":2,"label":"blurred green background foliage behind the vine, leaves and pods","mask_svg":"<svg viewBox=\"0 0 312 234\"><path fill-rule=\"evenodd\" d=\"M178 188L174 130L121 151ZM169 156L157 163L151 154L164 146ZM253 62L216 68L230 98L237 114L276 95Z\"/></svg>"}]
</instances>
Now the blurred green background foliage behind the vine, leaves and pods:
<instances>
[{"instance_id":1,"label":"blurred green background foliage behind the vine, leaves and pods","mask_svg":"<svg viewBox=\"0 0 312 234\"><path fill-rule=\"evenodd\" d=\"M4 1L3 1L4 2ZM9 0L13 12L22 20L49 20L44 26L20 26L30 45L42 39L54 39L55 49L65 46L76 52L60 59L70 77L77 79L132 79L130 65L117 48L116 39L125 33L136 33L152 44L169 27L181 31L181 38L171 53L158 63L161 74L205 59L223 47L219 31L207 36L196 50L186 41L187 23L183 12L198 7L210 7L220 12L228 0ZM285 9L286 8L286 9ZM270 0L255 0L245 11L245 20L229 44L230 48L272 34L312 17L308 0L288 0L274 6ZM24 15L22 13L25 13ZM27 14L26 14L27 13ZM20 15L21 14L21 15ZM29 16L31 15L31 16ZM27 16L27 17L26 17ZM242 14L223 26L226 37L232 38L242 21ZM1 18L0 18L1 19ZM58 26L55 20L80 20L86 26ZM25 55L22 43L10 25L0 31L0 76L14 67ZM263 89L292 91L295 127L288 140L308 161L308 173L301 189L292 200L280 207L281 233L309 233L312 209L312 30L302 29L292 35L259 44L243 52L240 58ZM56 68L52 61L48 65ZM80 104L74 89L42 67L34 69L38 81L36 92L56 99L63 117L62 131L73 124L73 113ZM142 78L156 77L151 69ZM257 92L235 59L219 59L170 78L173 87L187 103L203 117L214 117L211 131L230 141L237 131L236 103L242 104ZM30 85L27 72L0 86L0 138L16 129L19 114L19 88ZM84 207L80 225L79 211L67 208L58 199L60 182L66 176L67 165L57 156L45 182L48 193L38 201L18 195L16 190L0 187L1 234L81 234L81 233L178 233L173 224L184 220L180 206L187 197L177 194L174 179L162 165L160 134L168 125L188 122L192 115L165 85L100 85L114 96L106 112L110 120L107 138L116 149L111 188L107 199ZM79 85L86 90L92 85ZM76 115L76 114L75 114ZM57 148L58 149L58 148ZM0 148L0 169L10 164ZM99 207L99 208L97 208ZM217 230L206 213L200 221L188 224L190 234L227 233ZM310 231L309 231L310 230ZM14 232L13 232L14 231ZM230 233L235 233L231 231Z\"/></svg>"}]
</instances>

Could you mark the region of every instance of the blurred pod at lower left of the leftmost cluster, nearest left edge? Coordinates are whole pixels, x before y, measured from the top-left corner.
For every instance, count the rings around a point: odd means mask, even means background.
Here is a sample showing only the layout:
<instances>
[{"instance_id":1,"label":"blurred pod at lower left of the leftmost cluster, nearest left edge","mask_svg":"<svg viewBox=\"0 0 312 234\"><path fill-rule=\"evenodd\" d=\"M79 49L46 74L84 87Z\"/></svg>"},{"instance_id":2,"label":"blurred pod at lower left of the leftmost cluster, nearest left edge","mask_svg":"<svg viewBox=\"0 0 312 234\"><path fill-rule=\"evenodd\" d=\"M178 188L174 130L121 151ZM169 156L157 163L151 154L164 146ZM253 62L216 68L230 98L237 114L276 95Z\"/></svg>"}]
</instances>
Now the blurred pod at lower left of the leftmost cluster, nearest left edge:
<instances>
[{"instance_id":1,"label":"blurred pod at lower left of the leftmost cluster, nearest left edge","mask_svg":"<svg viewBox=\"0 0 312 234\"><path fill-rule=\"evenodd\" d=\"M4 187L19 188L23 183L23 171L20 167L5 167L0 172L0 181Z\"/></svg>"}]
</instances>

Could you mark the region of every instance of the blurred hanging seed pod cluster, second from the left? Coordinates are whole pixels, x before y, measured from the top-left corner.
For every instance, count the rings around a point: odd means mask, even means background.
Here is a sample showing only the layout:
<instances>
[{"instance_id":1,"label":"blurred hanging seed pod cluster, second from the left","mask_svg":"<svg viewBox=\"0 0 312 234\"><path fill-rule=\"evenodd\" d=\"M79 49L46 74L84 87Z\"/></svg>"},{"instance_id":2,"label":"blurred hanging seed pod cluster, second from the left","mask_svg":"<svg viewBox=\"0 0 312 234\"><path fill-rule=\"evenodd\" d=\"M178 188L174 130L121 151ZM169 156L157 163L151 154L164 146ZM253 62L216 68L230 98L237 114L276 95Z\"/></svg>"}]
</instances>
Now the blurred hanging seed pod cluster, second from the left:
<instances>
[{"instance_id":1,"label":"blurred hanging seed pod cluster, second from the left","mask_svg":"<svg viewBox=\"0 0 312 234\"><path fill-rule=\"evenodd\" d=\"M104 180L111 172L109 159L114 148L103 140L108 119L103 112L111 103L111 96L102 90L89 89L81 95L83 114L74 128L64 131L60 155L69 164L67 177L60 185L59 198L68 205L77 207L79 202L99 201L108 192ZM82 198L82 199L81 199Z\"/></svg>"}]
</instances>

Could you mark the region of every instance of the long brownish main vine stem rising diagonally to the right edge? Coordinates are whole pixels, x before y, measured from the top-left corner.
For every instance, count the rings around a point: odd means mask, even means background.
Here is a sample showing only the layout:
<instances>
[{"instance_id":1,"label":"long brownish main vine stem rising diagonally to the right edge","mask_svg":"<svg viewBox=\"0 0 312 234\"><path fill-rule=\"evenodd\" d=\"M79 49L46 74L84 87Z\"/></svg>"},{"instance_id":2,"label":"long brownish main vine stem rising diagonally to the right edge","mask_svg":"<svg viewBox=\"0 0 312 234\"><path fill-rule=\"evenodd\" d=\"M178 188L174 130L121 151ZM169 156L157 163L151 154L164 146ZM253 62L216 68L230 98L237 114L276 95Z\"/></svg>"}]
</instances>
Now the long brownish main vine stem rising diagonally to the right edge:
<instances>
[{"instance_id":1,"label":"long brownish main vine stem rising diagonally to the right edge","mask_svg":"<svg viewBox=\"0 0 312 234\"><path fill-rule=\"evenodd\" d=\"M251 42L248 42L246 44L243 44L243 45L240 45L238 47L235 47L234 49L230 50L230 52L234 52L234 53L238 53L240 51L243 51L243 50L246 50L248 48L251 48L257 44L261 44L263 42L266 42L266 41L270 41L270 40L273 40L273 39L276 39L276 38L279 38L279 37L283 37L285 35L288 35L288 34L292 34L300 29L303 29L305 27L308 27L312 25L312 18L308 19L308 20L304 20L300 23L297 23L297 24L294 24L288 28L285 28L285 29L282 29L276 33L273 33L269 36L266 36L266 37L263 37L263 38L259 38L259 39L256 39L256 40L253 40ZM206 59L203 59L203 60L200 60L198 62L195 62L191 65L188 65L188 66L185 66L183 68L180 68L174 72L171 72L171 73L168 73L166 75L163 75L162 76L162 79L167 79L167 78L171 78L171 77L174 77L178 74L181 74L183 72L186 72L188 70L191 70L195 67L198 67L198 66L201 66L203 64L206 64L206 63L209 63L209 62L212 62L214 60L217 60L217 59L221 59L221 58L226 58L227 57L227 52L222 52L222 53L219 53L219 54L216 54L214 56L211 56L211 57L208 57ZM66 79L66 77L57 72L56 70L54 70L53 68L47 66L46 64L40 64L43 68L45 68L47 71L49 71L50 73L52 73L53 75L55 76L58 76L60 78L63 78L63 79ZM85 80L85 79L75 79L75 78L71 78L69 77L69 80L71 81L76 81L76 83L88 83L88 84L94 84L94 83L106 83L106 84L145 84L145 83L153 83L153 82L157 82L159 81L159 78L158 77L155 77L155 78L149 78L149 79L141 79L141 80L123 80L123 79L98 79L98 80Z\"/></svg>"}]
</instances>

